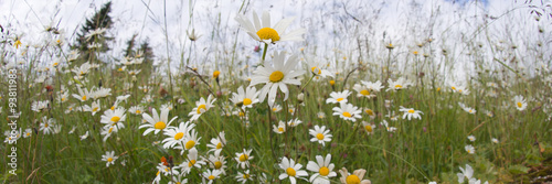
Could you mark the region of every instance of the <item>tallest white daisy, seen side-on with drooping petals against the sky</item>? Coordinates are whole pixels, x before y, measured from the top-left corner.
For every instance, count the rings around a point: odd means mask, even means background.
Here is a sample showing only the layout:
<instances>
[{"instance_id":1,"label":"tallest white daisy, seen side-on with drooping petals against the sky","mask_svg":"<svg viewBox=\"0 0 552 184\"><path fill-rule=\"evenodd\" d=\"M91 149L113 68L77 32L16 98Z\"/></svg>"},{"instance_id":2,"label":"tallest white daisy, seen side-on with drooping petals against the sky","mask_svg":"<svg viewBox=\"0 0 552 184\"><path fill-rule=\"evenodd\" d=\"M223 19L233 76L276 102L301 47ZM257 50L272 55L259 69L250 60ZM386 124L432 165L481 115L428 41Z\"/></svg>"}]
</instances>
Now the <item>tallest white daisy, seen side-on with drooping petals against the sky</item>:
<instances>
[{"instance_id":1,"label":"tallest white daisy, seen side-on with drooping petals against the sky","mask_svg":"<svg viewBox=\"0 0 552 184\"><path fill-rule=\"evenodd\" d=\"M302 41L301 34L306 32L305 29L299 29L284 34L284 31L295 18L284 19L270 28L270 14L267 11L263 12L262 20L259 20L257 13L253 11L253 23L242 14L237 14L234 20L245 29L251 37L266 44L282 41Z\"/></svg>"}]
</instances>

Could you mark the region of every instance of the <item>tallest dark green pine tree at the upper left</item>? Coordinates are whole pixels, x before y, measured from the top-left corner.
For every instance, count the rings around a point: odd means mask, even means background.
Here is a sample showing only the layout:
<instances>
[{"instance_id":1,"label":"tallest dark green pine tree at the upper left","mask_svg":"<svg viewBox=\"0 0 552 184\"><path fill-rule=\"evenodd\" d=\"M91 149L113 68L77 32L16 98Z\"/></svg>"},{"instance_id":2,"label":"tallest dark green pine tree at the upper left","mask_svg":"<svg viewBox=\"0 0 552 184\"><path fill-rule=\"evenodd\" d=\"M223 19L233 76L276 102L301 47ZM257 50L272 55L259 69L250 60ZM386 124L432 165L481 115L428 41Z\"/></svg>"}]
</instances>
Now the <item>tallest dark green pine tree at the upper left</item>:
<instances>
[{"instance_id":1,"label":"tallest dark green pine tree at the upper left","mask_svg":"<svg viewBox=\"0 0 552 184\"><path fill-rule=\"evenodd\" d=\"M81 51L81 56L88 61L91 58L91 48L88 45L93 43L102 44L102 47L95 50L95 52L105 53L109 51L109 46L107 46L107 41L112 41L113 37L105 36L105 32L102 34L94 35L92 37L86 37L86 34L99 30L99 29L110 29L113 25L112 17L109 12L112 11L112 2L106 2L102 6L102 9L97 11L92 18L86 19L84 25L81 26L81 33L77 33L76 43L72 45L73 50Z\"/></svg>"}]
</instances>

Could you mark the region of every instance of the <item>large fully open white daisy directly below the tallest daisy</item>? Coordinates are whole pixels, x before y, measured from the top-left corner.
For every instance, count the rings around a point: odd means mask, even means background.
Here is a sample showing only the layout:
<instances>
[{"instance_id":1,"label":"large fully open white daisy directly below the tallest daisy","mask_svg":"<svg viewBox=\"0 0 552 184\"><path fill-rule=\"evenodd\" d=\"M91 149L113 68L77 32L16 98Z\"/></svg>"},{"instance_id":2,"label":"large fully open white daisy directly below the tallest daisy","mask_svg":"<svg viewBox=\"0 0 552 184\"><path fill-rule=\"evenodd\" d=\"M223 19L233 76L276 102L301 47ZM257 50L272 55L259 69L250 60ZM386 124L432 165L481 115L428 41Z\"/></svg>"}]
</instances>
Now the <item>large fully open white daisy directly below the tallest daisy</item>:
<instances>
[{"instance_id":1,"label":"large fully open white daisy directly below the tallest daisy","mask_svg":"<svg viewBox=\"0 0 552 184\"><path fill-rule=\"evenodd\" d=\"M250 86L255 86L257 84L265 84L259 93L259 102L265 101L266 95L268 95L268 105L274 106L276 99L276 93L278 88L284 93L284 100L287 100L289 96L288 85L301 85L300 80L296 77L302 75L302 71L297 71L298 59L297 55L291 55L285 61L285 52L274 52L273 66L265 62L264 66L258 66L253 74Z\"/></svg>"}]
</instances>

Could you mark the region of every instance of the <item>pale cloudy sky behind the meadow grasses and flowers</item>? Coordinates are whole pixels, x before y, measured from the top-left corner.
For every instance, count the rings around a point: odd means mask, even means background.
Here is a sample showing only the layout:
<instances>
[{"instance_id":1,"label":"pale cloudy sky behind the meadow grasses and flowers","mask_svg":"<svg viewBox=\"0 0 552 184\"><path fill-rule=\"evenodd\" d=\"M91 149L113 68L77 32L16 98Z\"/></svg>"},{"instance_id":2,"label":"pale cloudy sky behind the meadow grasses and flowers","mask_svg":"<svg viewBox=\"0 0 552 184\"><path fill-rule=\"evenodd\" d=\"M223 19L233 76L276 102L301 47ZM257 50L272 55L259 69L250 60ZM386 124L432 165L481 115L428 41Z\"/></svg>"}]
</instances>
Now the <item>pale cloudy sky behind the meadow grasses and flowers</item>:
<instances>
[{"instance_id":1,"label":"pale cloudy sky behind the meadow grasses and flowers","mask_svg":"<svg viewBox=\"0 0 552 184\"><path fill-rule=\"evenodd\" d=\"M75 33L87 18L100 9L107 0L0 0L0 24L13 33L24 33L23 44L38 44L47 40L44 26L53 24L65 30L67 42L73 43ZM123 56L125 42L138 34L138 40L148 40L158 59L167 56L180 59L182 55L197 55L192 63L201 61L227 59L227 51L235 45L240 51L238 61L258 58L253 47L258 45L240 30L234 18L242 4L247 18L252 12L268 11L273 24L283 18L296 17L288 30L305 28L306 41L283 43L276 50L297 51L306 47L321 57L354 57L358 41L370 42L364 50L375 45L397 44L404 52L416 50L415 43L427 37L437 42L431 51L447 47L458 56L467 53L460 40L486 43L486 36L478 31L489 23L485 32L493 32L497 40L524 47L530 41L549 39L535 34L538 26L550 28L550 19L534 21L529 4L507 0L283 0L283 1L238 1L238 0L115 0L112 18L114 28L108 34L115 36L108 53L115 58ZM542 2L542 3L541 3ZM543 7L550 0L531 2ZM548 10L550 13L550 8ZM190 19L191 18L191 19ZM488 19L487 19L488 18ZM497 18L497 19L491 19ZM167 36L164 33L167 20ZM546 23L549 22L549 23ZM195 30L202 35L195 43L188 40L187 31ZM548 32L549 33L549 32ZM481 36L480 36L481 35ZM497 41L498 42L498 41ZM168 44L167 44L168 43ZM495 42L492 42L495 43ZM548 45L548 44L546 44ZM548 50L548 47L545 48ZM332 53L333 52L333 53ZM383 53L385 50L374 50ZM424 51L421 51L424 52ZM382 54L376 54L382 55ZM224 57L226 56L226 57ZM383 54L383 56L385 56ZM461 57L459 57L461 58ZM489 56L490 58L490 56ZM383 59L374 56L374 59ZM456 66L468 67L467 64Z\"/></svg>"}]
</instances>

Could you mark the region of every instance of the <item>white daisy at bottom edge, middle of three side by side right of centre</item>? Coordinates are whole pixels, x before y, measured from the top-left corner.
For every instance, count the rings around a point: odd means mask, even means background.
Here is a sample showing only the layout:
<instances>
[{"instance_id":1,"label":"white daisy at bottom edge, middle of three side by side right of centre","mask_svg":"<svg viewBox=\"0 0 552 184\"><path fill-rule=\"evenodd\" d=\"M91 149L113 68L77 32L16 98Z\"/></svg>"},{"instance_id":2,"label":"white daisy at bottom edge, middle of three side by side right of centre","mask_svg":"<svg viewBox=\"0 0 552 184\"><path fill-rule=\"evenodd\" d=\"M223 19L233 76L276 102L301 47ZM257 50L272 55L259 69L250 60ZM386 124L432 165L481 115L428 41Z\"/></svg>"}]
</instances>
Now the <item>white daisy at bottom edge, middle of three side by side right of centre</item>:
<instances>
[{"instance_id":1,"label":"white daisy at bottom edge, middle of three side by side right of centre","mask_svg":"<svg viewBox=\"0 0 552 184\"><path fill-rule=\"evenodd\" d=\"M307 164L307 170L315 172L310 176L310 182L315 184L329 184L329 177L335 177L338 174L333 172L333 163L330 163L331 154L327 154L326 159L322 155L316 156L316 162L309 161Z\"/></svg>"}]
</instances>

